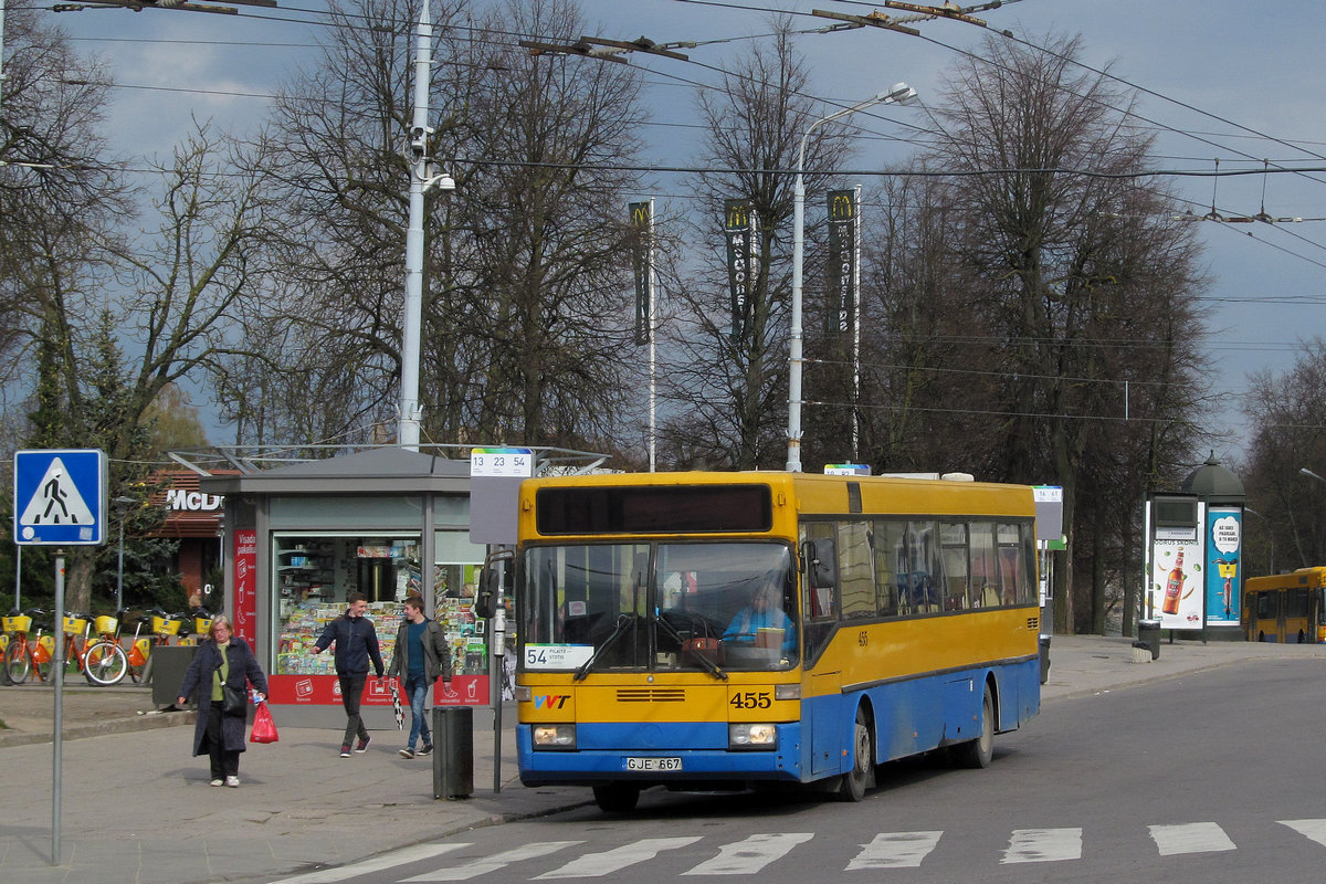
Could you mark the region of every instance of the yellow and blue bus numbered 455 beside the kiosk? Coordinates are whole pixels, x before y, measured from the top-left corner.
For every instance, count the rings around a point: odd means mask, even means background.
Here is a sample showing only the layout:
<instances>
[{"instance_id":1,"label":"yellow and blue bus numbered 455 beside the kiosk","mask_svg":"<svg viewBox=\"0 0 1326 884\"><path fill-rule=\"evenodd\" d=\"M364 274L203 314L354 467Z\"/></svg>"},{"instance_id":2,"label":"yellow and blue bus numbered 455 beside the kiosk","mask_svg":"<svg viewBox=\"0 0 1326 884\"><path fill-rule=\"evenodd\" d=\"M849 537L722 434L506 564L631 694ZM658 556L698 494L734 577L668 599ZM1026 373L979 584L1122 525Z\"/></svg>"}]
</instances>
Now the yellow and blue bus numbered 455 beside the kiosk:
<instances>
[{"instance_id":1,"label":"yellow and blue bus numbered 455 beside the kiosk","mask_svg":"<svg viewBox=\"0 0 1326 884\"><path fill-rule=\"evenodd\" d=\"M985 767L1040 710L1030 486L801 473L528 480L516 549L528 786L812 783Z\"/></svg>"}]
</instances>

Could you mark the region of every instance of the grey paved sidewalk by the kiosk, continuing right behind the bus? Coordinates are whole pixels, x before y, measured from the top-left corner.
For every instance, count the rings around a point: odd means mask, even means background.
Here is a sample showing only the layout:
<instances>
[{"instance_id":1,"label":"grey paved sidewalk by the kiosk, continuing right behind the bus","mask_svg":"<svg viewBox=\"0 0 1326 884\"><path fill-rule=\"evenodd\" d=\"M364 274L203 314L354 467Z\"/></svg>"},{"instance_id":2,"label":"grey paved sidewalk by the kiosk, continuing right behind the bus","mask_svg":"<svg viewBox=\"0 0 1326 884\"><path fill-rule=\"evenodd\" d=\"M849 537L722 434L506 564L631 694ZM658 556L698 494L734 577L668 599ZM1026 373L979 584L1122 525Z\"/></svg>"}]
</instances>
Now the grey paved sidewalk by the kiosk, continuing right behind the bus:
<instances>
[{"instance_id":1,"label":"grey paved sidewalk by the kiosk, continuing right behind the bus","mask_svg":"<svg viewBox=\"0 0 1326 884\"><path fill-rule=\"evenodd\" d=\"M1042 701L1266 657L1322 659L1326 647L1166 643L1159 660L1138 664L1130 639L1055 636ZM251 745L240 757L240 789L212 789L207 758L190 755L192 713L139 714L149 710L150 689L66 684L61 851L52 865L53 692L0 688L9 810L0 820L0 880L276 880L593 801L587 789L520 785L513 706L503 713L499 793L492 714L475 710L475 791L463 801L432 798L431 759L400 758L395 730L373 732L369 751L339 758L338 730L284 728L278 744Z\"/></svg>"}]
</instances>

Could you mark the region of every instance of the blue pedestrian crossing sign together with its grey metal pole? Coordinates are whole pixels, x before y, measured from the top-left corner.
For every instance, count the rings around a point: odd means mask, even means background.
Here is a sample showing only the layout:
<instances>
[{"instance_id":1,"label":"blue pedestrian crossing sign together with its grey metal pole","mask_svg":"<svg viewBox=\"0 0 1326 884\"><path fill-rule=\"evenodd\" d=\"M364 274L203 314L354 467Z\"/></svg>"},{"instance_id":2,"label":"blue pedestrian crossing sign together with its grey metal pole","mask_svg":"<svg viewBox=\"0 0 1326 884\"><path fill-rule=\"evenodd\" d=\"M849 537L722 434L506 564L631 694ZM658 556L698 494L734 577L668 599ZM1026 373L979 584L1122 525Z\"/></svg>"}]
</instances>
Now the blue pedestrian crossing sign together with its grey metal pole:
<instances>
[{"instance_id":1,"label":"blue pedestrian crossing sign together with its grey metal pole","mask_svg":"<svg viewBox=\"0 0 1326 884\"><path fill-rule=\"evenodd\" d=\"M13 455L13 542L20 546L99 546L106 542L106 452L19 451ZM17 599L17 595L15 596ZM56 681L52 732L50 864L60 864L61 759L65 702L65 557L56 550Z\"/></svg>"}]
</instances>

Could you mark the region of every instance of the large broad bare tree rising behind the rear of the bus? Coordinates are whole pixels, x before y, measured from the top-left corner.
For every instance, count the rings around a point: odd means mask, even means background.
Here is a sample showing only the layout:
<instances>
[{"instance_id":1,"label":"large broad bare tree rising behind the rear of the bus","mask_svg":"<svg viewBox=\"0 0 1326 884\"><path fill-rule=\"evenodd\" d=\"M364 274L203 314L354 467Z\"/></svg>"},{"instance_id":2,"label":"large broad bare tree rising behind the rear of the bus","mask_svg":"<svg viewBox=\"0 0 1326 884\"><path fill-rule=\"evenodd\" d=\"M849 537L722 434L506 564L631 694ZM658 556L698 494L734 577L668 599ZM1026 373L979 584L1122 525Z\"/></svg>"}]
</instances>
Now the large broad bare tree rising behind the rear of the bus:
<instances>
[{"instance_id":1,"label":"large broad bare tree rising behind the rear of the bus","mask_svg":"<svg viewBox=\"0 0 1326 884\"><path fill-rule=\"evenodd\" d=\"M927 371L971 380L931 378L948 394L928 403L943 417L918 423L956 433L973 472L1062 485L1070 549L1097 577L1074 580L1074 558L1055 570L1055 627L1091 628L1106 607L1106 570L1093 557L1118 551L1106 538L1126 535L1140 494L1172 481L1197 437L1204 280L1192 228L1170 220L1172 197L1140 176L1151 142L1130 127L1128 95L1078 73L1077 40L1046 42L1049 52L991 37L984 57L956 65L935 110L924 164L955 174L939 195L949 245L911 273L945 280L932 309L961 317L964 330L936 326L935 346L920 351ZM949 280L960 285L944 290ZM1128 403L1126 388L1136 394ZM1127 497L1119 470L1144 477Z\"/></svg>"}]
</instances>

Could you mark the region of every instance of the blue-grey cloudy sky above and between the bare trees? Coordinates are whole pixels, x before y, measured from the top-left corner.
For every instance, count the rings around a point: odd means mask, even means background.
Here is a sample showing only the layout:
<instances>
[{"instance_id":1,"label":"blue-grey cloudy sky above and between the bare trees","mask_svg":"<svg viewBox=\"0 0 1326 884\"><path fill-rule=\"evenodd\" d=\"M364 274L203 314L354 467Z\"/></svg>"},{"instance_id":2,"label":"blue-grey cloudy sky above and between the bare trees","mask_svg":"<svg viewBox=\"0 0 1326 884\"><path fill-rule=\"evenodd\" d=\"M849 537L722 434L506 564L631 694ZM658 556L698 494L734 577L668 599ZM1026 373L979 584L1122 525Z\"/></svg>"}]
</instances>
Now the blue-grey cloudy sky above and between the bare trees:
<instances>
[{"instance_id":1,"label":"blue-grey cloudy sky above and between the bare trees","mask_svg":"<svg viewBox=\"0 0 1326 884\"><path fill-rule=\"evenodd\" d=\"M11 7L17 0L9 0ZM776 12L805 30L798 46L813 72L813 91L837 106L898 81L935 95L963 52L980 49L987 30L955 21L912 23L920 37L879 28L822 32L834 23L813 9L865 16L906 12L847 0L582 0L586 33L618 40L646 36L682 49L693 62L636 56L646 69L650 158L686 164L695 146L691 91L678 78L715 83L752 40L772 29ZM49 9L49 7L42 7ZM325 28L318 0L280 0L278 9L241 8L241 16L86 8L44 12L82 52L102 56L119 83L110 134L121 150L168 155L191 118L224 126L256 123L269 95L314 52ZM1217 456L1241 452L1246 427L1240 400L1250 371L1285 371L1299 342L1326 334L1326 64L1319 56L1321 4L1310 0L1004 0L973 13L993 29L1012 29L1044 45L1050 34L1079 34L1082 58L1139 90L1136 113L1158 133L1151 166L1172 183L1196 216L1253 216L1301 221L1231 224L1195 220L1212 277L1204 342L1221 396L1217 429L1228 441ZM582 62L598 64L598 62ZM434 95L439 107L444 95ZM826 103L825 113L834 105ZM863 127L853 163L870 170L896 163L907 139L923 137L924 107L887 107ZM899 142L898 139L902 139ZM1211 178L1221 172L1254 174ZM1294 170L1261 174L1264 166ZM1322 171L1303 171L1303 170ZM1187 172L1188 175L1184 175ZM638 196L663 196L666 175Z\"/></svg>"}]
</instances>

